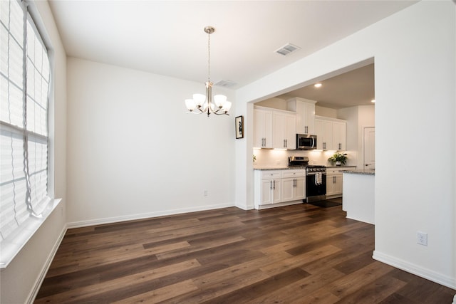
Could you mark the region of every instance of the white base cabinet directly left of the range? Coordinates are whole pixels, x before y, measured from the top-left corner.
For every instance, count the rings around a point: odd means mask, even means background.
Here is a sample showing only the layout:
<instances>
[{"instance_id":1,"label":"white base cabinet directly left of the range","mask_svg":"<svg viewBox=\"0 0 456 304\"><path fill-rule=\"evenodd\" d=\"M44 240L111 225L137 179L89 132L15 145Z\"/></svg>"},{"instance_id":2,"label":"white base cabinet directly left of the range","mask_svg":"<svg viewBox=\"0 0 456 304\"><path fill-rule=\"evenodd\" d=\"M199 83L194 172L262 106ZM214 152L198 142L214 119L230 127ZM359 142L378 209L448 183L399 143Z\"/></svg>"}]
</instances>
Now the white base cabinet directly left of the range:
<instances>
[{"instance_id":1,"label":"white base cabinet directly left of the range","mask_svg":"<svg viewBox=\"0 0 456 304\"><path fill-rule=\"evenodd\" d=\"M281 181L281 201L296 201L306 198L306 170L284 170Z\"/></svg>"}]
</instances>

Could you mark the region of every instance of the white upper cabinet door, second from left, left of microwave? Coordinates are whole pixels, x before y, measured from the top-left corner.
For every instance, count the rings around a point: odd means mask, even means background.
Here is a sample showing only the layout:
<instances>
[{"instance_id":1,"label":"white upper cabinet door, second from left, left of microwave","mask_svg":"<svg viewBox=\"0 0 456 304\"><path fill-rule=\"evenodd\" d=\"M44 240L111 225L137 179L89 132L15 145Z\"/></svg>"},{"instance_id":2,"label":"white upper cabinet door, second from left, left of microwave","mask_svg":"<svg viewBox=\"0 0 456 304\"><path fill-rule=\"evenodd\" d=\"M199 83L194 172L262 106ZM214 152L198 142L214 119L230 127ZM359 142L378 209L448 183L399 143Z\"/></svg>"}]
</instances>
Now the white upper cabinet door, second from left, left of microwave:
<instances>
[{"instance_id":1,"label":"white upper cabinet door, second from left, left of microwave","mask_svg":"<svg viewBox=\"0 0 456 304\"><path fill-rule=\"evenodd\" d=\"M296 114L273 110L272 112L273 147L277 149L296 149Z\"/></svg>"}]
</instances>

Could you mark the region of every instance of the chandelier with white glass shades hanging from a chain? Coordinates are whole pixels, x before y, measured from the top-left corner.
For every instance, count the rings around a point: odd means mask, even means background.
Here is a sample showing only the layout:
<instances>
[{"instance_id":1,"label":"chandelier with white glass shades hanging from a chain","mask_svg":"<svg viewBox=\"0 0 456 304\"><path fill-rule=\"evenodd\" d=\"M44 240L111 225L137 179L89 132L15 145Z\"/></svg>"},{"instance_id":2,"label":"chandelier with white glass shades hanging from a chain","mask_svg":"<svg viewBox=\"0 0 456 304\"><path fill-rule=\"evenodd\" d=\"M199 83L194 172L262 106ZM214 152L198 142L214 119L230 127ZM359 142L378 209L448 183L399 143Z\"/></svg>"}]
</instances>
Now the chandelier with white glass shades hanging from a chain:
<instances>
[{"instance_id":1,"label":"chandelier with white glass shades hanging from a chain","mask_svg":"<svg viewBox=\"0 0 456 304\"><path fill-rule=\"evenodd\" d=\"M212 85L211 83L211 33L214 33L215 28L206 26L204 32L207 33L207 83L206 95L193 94L192 99L185 100L185 106L190 113L202 114L207 113L207 117L212 113L215 115L229 115L228 111L231 108L231 103L227 101L225 95L214 95L214 103L212 103Z\"/></svg>"}]
</instances>

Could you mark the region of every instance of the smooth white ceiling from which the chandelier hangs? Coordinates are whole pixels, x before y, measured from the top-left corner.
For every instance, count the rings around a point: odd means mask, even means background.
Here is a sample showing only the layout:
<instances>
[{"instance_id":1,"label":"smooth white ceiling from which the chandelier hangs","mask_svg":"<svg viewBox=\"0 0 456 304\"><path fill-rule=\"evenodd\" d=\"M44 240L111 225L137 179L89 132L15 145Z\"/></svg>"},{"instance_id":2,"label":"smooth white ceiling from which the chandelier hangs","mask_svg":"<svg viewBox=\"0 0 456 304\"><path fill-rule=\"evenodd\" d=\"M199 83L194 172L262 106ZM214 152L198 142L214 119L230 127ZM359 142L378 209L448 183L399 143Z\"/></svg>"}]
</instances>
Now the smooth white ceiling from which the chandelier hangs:
<instances>
[{"instance_id":1,"label":"smooth white ceiling from which the chandelier hangs","mask_svg":"<svg viewBox=\"0 0 456 304\"><path fill-rule=\"evenodd\" d=\"M214 26L211 80L231 81L235 84L230 88L236 89L415 2L50 0L49 4L68 56L201 83L207 80L203 29ZM300 49L288 56L275 53L286 43ZM327 80L320 92L330 84L342 86ZM311 88L302 90L312 99ZM316 98L321 104L333 102L329 95Z\"/></svg>"}]
</instances>

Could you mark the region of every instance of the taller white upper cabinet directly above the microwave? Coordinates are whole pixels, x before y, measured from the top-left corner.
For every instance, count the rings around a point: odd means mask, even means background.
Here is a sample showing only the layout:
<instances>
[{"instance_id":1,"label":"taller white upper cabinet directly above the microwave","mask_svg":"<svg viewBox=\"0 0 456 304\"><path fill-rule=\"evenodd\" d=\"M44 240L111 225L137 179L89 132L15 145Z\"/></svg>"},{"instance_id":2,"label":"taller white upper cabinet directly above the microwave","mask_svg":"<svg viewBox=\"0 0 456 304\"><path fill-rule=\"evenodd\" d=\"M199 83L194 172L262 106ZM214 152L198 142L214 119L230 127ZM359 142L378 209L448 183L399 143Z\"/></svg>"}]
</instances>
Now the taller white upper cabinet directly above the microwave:
<instances>
[{"instance_id":1,"label":"taller white upper cabinet directly above the microwave","mask_svg":"<svg viewBox=\"0 0 456 304\"><path fill-rule=\"evenodd\" d=\"M315 100L291 98L287 110L296 112L296 133L315 135Z\"/></svg>"}]
</instances>

